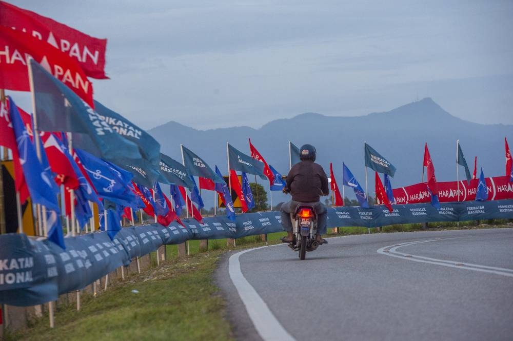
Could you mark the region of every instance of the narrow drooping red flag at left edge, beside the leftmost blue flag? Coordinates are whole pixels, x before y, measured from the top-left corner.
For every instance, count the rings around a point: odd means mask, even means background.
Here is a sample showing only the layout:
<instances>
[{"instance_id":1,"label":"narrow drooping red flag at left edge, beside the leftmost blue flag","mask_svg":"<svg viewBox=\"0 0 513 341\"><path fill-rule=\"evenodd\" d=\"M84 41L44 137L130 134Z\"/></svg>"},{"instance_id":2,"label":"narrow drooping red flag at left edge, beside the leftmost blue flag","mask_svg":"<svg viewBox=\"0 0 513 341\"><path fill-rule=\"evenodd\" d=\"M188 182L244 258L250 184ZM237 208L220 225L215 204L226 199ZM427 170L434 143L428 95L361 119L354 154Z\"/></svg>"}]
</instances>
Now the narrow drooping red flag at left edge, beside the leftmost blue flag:
<instances>
[{"instance_id":1,"label":"narrow drooping red flag at left edge, beside the leftmost blue flag","mask_svg":"<svg viewBox=\"0 0 513 341\"><path fill-rule=\"evenodd\" d=\"M23 115L22 115L23 117ZM14 186L19 192L19 200L23 204L29 197L29 190L25 182L23 168L19 162L18 146L16 137L12 129L11 118L9 116L9 102L0 103L0 146L7 147L12 152L12 160L14 164Z\"/></svg>"}]
</instances>

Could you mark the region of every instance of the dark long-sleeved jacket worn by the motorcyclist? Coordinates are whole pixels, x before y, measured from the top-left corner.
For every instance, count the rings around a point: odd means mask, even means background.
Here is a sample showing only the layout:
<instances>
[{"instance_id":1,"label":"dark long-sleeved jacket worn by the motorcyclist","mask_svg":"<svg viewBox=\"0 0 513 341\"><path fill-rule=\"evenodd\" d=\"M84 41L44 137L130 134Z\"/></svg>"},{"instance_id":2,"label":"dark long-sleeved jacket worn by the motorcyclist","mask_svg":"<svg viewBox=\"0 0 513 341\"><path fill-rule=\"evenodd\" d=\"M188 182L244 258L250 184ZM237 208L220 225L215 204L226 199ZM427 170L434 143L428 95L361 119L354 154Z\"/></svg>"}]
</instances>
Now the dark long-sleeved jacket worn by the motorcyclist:
<instances>
[{"instance_id":1,"label":"dark long-sleeved jacket worn by the motorcyclist","mask_svg":"<svg viewBox=\"0 0 513 341\"><path fill-rule=\"evenodd\" d=\"M296 202L318 202L321 195L329 193L328 177L321 165L304 160L290 169L285 190L292 194L292 200Z\"/></svg>"}]
</instances>

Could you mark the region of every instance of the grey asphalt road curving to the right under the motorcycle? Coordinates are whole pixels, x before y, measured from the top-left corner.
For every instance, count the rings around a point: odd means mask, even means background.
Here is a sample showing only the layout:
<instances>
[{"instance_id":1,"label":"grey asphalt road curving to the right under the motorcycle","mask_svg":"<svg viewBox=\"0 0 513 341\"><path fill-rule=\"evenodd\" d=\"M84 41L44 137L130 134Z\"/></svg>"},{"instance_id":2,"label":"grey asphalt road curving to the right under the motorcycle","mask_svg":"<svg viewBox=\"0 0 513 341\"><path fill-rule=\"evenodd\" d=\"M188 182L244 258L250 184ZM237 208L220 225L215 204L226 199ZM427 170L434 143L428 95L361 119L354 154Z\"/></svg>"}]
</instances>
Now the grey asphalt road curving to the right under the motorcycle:
<instances>
[{"instance_id":1,"label":"grey asphalt road curving to the right under the motorcycle","mask_svg":"<svg viewBox=\"0 0 513 341\"><path fill-rule=\"evenodd\" d=\"M261 340L267 326L255 329L229 256L216 277L235 336ZM286 245L239 256L291 339L513 340L513 229L337 237L306 257Z\"/></svg>"}]
</instances>

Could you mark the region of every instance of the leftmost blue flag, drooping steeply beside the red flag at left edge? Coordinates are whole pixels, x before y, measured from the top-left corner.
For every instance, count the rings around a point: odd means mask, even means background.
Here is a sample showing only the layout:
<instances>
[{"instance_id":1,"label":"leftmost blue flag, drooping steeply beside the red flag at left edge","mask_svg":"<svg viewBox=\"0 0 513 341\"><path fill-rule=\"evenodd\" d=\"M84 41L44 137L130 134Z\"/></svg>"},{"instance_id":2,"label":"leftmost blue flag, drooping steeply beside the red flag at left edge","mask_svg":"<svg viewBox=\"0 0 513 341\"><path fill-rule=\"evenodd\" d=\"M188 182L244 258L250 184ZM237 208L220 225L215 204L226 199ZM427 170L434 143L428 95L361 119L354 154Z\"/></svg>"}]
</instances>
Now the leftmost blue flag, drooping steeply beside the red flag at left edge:
<instances>
[{"instance_id":1,"label":"leftmost blue flag, drooping steeply beside the red flag at left edge","mask_svg":"<svg viewBox=\"0 0 513 341\"><path fill-rule=\"evenodd\" d=\"M34 204L46 206L49 210L60 212L57 202L58 187L53 180L53 174L45 170L40 163L30 136L25 129L22 117L19 115L16 104L9 96L9 116L16 137L19 153L19 162L22 165L25 181L30 197ZM34 139L35 140L35 139ZM43 145L41 145L43 149Z\"/></svg>"}]
</instances>

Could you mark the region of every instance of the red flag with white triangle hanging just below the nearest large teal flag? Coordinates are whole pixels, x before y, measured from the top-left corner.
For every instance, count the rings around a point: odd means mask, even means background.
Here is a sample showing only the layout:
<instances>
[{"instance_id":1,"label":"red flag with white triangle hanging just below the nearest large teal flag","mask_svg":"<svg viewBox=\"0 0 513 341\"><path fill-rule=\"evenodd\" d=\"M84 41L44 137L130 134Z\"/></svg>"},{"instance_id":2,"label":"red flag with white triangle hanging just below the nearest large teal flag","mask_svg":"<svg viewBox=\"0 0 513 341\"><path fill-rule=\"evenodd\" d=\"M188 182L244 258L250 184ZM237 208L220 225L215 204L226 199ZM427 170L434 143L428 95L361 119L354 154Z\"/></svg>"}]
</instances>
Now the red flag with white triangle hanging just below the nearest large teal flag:
<instances>
[{"instance_id":1,"label":"red flag with white triangle hanging just below the nearest large teal flag","mask_svg":"<svg viewBox=\"0 0 513 341\"><path fill-rule=\"evenodd\" d=\"M73 170L73 166L66 154L64 154L64 150L59 146L56 137L52 133L42 132L41 139L46 155L48 156L50 167L52 171L57 174L55 176L57 185L64 185L67 188L76 189L80 183Z\"/></svg>"}]
</instances>

